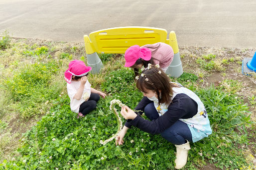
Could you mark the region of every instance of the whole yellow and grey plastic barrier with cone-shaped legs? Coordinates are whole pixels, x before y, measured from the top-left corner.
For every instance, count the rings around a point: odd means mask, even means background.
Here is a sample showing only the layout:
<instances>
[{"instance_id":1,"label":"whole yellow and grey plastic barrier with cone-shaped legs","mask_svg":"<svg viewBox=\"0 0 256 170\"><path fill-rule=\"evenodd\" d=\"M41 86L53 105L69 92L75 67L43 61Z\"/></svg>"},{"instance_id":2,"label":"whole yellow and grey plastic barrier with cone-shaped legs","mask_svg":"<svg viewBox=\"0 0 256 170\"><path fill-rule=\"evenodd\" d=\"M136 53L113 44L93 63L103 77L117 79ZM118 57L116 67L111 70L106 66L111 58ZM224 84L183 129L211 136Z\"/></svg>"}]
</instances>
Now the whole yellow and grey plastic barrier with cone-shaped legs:
<instances>
[{"instance_id":1,"label":"whole yellow and grey plastic barrier with cone-shaped legs","mask_svg":"<svg viewBox=\"0 0 256 170\"><path fill-rule=\"evenodd\" d=\"M92 67L93 73L100 72L103 64L97 53L123 54L133 45L162 42L169 44L174 51L173 61L166 73L179 77L183 70L175 32L171 31L169 39L166 38L165 29L152 27L116 27L95 31L89 37L84 35L87 64Z\"/></svg>"}]
</instances>

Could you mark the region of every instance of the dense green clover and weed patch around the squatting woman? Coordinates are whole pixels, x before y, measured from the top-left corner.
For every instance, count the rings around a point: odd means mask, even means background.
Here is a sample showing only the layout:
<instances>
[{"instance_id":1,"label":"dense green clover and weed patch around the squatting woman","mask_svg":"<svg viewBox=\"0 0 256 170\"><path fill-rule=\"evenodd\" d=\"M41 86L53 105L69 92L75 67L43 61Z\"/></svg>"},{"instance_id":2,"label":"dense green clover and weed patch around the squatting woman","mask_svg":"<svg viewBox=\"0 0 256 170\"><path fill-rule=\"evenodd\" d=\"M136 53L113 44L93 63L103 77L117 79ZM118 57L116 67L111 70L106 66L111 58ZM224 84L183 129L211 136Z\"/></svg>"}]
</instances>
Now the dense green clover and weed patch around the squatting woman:
<instances>
[{"instance_id":1,"label":"dense green clover and weed patch around the squatting woman","mask_svg":"<svg viewBox=\"0 0 256 170\"><path fill-rule=\"evenodd\" d=\"M134 89L132 70L121 68L105 76L101 87L111 95L101 99L95 111L77 119L76 113L70 111L68 96L57 97L50 112L25 134L18 150L22 156L4 161L0 167L11 169L15 164L19 169L173 169L175 147L159 135L132 128L123 146L116 147L113 141L104 146L99 143L117 131L117 120L109 109L110 101L120 99L134 108L142 96ZM183 84L188 79L195 82L197 77L184 73L179 82ZM248 165L242 149L236 146L248 144L245 128L251 124L248 107L240 104L242 100L235 100L234 96L213 86L196 93L205 104L213 134L191 144L186 168L194 170L208 161L221 169L235 170Z\"/></svg>"}]
</instances>

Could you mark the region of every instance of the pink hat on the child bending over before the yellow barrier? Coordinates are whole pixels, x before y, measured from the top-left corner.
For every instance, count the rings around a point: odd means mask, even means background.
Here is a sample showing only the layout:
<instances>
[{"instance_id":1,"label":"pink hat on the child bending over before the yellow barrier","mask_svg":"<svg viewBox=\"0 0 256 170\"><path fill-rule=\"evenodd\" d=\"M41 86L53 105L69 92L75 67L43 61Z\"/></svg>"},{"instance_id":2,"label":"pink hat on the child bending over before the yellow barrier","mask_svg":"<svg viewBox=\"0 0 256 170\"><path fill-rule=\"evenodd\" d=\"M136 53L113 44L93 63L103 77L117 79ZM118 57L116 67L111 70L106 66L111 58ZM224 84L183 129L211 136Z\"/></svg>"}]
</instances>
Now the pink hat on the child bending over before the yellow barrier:
<instances>
[{"instance_id":1,"label":"pink hat on the child bending over before the yellow barrier","mask_svg":"<svg viewBox=\"0 0 256 170\"><path fill-rule=\"evenodd\" d=\"M129 47L125 53L125 67L132 66L138 58L142 58L146 61L150 60L151 51L146 47L140 48L138 45Z\"/></svg>"}]
</instances>

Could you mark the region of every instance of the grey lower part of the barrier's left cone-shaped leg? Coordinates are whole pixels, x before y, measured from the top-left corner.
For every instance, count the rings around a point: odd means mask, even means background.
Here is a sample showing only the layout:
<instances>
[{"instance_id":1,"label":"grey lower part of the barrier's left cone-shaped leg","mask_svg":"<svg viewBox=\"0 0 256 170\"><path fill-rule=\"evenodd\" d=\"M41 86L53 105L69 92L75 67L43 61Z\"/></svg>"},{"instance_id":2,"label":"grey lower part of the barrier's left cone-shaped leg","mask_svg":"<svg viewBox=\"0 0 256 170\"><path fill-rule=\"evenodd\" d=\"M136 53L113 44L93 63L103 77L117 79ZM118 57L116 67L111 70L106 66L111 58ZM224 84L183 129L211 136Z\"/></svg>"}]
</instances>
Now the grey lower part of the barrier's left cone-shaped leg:
<instances>
[{"instance_id":1,"label":"grey lower part of the barrier's left cone-shaped leg","mask_svg":"<svg viewBox=\"0 0 256 170\"><path fill-rule=\"evenodd\" d=\"M92 73L100 72L101 68L103 67L103 63L98 54L95 52L91 55L86 55L86 57L88 66L92 67Z\"/></svg>"}]
</instances>

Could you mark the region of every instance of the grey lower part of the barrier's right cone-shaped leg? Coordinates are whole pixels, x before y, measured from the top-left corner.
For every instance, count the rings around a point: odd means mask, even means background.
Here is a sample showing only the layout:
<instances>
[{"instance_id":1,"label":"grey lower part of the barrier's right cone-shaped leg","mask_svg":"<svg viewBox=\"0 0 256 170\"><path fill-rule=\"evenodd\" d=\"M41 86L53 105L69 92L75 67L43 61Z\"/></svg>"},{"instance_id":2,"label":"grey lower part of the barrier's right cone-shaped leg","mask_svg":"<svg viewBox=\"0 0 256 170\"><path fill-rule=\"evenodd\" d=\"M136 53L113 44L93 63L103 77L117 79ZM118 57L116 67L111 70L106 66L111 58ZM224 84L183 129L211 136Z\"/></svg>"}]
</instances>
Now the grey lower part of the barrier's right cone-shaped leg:
<instances>
[{"instance_id":1,"label":"grey lower part of the barrier's right cone-shaped leg","mask_svg":"<svg viewBox=\"0 0 256 170\"><path fill-rule=\"evenodd\" d=\"M174 54L173 60L166 70L166 74L172 77L179 77L183 73L182 63L180 60L180 53Z\"/></svg>"}]
</instances>

